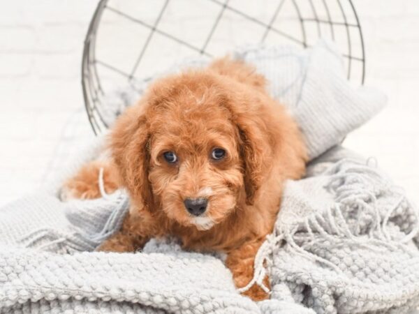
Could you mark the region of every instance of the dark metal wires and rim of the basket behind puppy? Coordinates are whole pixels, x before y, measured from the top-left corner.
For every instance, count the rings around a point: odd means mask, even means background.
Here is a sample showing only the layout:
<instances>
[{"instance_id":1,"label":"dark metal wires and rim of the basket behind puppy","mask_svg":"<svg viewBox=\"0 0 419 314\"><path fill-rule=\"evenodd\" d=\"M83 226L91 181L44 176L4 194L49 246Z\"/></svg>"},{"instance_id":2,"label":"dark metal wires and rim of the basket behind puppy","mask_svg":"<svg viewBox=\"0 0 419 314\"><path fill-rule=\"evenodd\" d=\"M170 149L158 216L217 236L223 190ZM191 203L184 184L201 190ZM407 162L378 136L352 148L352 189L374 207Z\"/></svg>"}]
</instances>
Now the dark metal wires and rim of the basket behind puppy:
<instances>
[{"instance_id":1,"label":"dark metal wires and rim of the basket behind puppy","mask_svg":"<svg viewBox=\"0 0 419 314\"><path fill-rule=\"evenodd\" d=\"M142 57L144 56L145 51L147 50L147 47L149 46L149 43L152 40L154 33L159 33L161 36L164 36L170 40L174 40L175 42L179 43L179 45L188 47L190 50L195 51L198 54L203 54L207 57L213 57L212 54L207 52L206 49L207 49L208 44L210 43L210 40L212 39L214 31L216 30L216 27L219 25L219 22L221 18L223 17L223 14L227 10L235 13L236 15L240 15L240 17L243 17L244 19L249 20L250 22L253 22L253 23L259 24L262 27L265 27L265 32L263 33L262 38L260 38L259 40L260 43L263 43L265 39L267 38L268 33L272 31L274 33L277 33L279 36L282 36L288 40L291 40L293 43L297 45L301 45L302 47L308 47L309 43L307 43L307 28L313 27L313 23L315 24L317 35L319 38L322 36L321 25L322 24L328 25L330 27L330 35L332 37L332 40L335 40L337 36L337 34L335 34L334 27L335 26L345 27L347 52L343 54L343 57L346 58L348 61L347 62L348 78L351 78L351 68L352 68L353 61L357 61L362 64L362 73L360 77L360 83L363 84L365 80L364 40L362 38L362 29L360 26L360 21L358 19L358 15L355 11L355 7L353 6L353 3L351 0L336 0L340 9L341 15L344 18L343 22L336 22L333 20L329 7L328 7L328 0L321 0L323 3L323 9L325 9L325 12L326 12L326 17L327 17L326 19L324 18L321 19L318 17L318 12L316 10L316 6L314 5L313 0L304 0L305 1L304 3L309 6L309 8L311 9L311 13L314 15L314 17L309 17L309 18L302 16L302 13L300 11L300 6L297 3L297 0L278 0L278 6L276 10L274 10L274 14L272 15L269 22L258 20L255 17L252 17L248 15L247 13L242 12L239 9L233 6L230 6L229 0L223 0L223 1L207 0L207 1L211 1L213 3L218 4L220 6L220 11L202 47L196 47L195 45L191 45L190 43L187 43L185 40L182 40L182 38L177 38L176 36L172 36L170 33L167 33L166 31L162 31L161 29L158 28L159 22L161 21L161 17L163 16L163 13L165 12L169 1L175 1L175 0L164 1L163 6L160 10L160 13L158 17L156 18L156 21L154 22L154 24L148 24L147 22L139 20L136 17L133 17L127 13L124 13L118 10L117 8L113 8L112 6L109 6L108 0L99 1L98 6L89 24L89 29L87 31L86 38L84 40L84 49L83 49L83 56L82 56L82 90L83 90L83 96L84 96L84 105L86 107L86 111L89 117L91 127L93 128L94 133L96 135L98 133L101 133L105 128L108 128L108 125L106 124L105 120L101 116L101 109L100 109L101 97L100 96L101 95L103 96L104 91L101 86L101 79L98 75L97 66L103 66L105 68L108 68L108 70L112 70L115 73L119 73L119 75L123 75L124 77L126 77L128 81L133 80L133 78L135 77L134 76L135 71L137 70L138 65L140 64L140 61ZM293 4L293 7L295 8L295 13L297 13L297 19L300 22L302 38L296 38L295 36L291 36L290 34L284 31L281 31L281 29L277 29L277 27L274 27L274 22L275 20L277 20L279 12L282 6L284 5L285 1L291 1ZM347 15L341 1L348 1L351 8L351 14L353 15L353 17L355 17L355 22L348 22ZM115 66L112 66L111 64L103 60L96 59L96 33L98 31L98 27L101 22L101 17L105 10L110 10L113 13L121 17L124 17L128 20L131 20L132 22L138 23L142 27L145 27L150 30L150 33L147 36L145 44L138 55L138 59L136 59L134 66L129 73L126 73L124 70L121 70ZM352 47L353 40L351 38L351 30L350 30L351 28L355 29L358 32L358 36L359 36L358 40L360 43L360 50L361 50L360 56L353 55L354 51Z\"/></svg>"}]
</instances>

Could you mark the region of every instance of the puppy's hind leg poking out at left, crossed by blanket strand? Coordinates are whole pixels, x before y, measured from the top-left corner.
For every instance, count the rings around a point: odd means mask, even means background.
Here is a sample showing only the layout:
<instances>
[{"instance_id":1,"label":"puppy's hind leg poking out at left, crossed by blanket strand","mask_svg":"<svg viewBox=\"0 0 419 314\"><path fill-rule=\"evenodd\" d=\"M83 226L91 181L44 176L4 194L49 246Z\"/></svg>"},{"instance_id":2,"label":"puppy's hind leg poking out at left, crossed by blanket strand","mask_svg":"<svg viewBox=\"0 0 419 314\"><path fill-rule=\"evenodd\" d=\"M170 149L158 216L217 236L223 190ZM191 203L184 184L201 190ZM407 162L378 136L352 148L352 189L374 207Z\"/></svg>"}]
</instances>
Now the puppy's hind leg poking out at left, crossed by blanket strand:
<instances>
[{"instance_id":1,"label":"puppy's hind leg poking out at left, crossed by blanket strand","mask_svg":"<svg viewBox=\"0 0 419 314\"><path fill-rule=\"evenodd\" d=\"M64 202L68 200L91 200L101 197L99 187L99 174L103 169L103 188L106 193L115 192L118 188L117 176L115 171L108 163L93 161L84 165L79 172L71 179L67 180L60 191L60 199Z\"/></svg>"}]
</instances>

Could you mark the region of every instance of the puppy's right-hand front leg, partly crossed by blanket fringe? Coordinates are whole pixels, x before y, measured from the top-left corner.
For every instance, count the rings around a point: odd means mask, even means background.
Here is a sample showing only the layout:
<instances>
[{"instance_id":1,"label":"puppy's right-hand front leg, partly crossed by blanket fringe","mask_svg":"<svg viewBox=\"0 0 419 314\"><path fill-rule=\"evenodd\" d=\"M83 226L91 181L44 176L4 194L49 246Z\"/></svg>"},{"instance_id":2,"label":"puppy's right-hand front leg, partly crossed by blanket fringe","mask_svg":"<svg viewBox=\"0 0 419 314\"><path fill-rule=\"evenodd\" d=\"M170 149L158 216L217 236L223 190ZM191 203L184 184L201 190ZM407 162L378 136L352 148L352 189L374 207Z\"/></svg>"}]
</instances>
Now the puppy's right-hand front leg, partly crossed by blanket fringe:
<instances>
[{"instance_id":1,"label":"puppy's right-hand front leg, partly crossed by blanket fringe","mask_svg":"<svg viewBox=\"0 0 419 314\"><path fill-rule=\"evenodd\" d=\"M254 262L256 253L258 253L258 249L262 245L263 240L256 240L247 242L244 245L240 246L230 253L228 253L226 265L233 273L233 278L235 281L236 287L244 287L247 285L251 279L253 278L254 274ZM269 287L269 278L265 277L263 283ZM268 294L263 291L261 287L259 287L256 283L251 286L247 292L243 293L253 299L253 301L261 301L267 299L269 296Z\"/></svg>"}]
</instances>

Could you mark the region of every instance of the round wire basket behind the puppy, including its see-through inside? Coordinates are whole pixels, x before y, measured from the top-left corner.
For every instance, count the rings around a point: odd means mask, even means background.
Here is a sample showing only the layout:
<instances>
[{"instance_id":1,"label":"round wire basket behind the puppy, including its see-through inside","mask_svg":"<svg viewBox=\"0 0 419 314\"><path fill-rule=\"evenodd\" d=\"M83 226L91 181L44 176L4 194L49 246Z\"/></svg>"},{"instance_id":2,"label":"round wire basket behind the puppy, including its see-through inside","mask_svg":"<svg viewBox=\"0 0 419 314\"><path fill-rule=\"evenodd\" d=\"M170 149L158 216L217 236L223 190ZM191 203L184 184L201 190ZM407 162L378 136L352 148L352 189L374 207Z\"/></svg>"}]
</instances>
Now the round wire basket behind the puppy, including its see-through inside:
<instances>
[{"instance_id":1,"label":"round wire basket behind the puppy, including its see-through inside","mask_svg":"<svg viewBox=\"0 0 419 314\"><path fill-rule=\"evenodd\" d=\"M365 50L351 0L101 0L82 58L91 127L95 134L108 128L103 95L179 58L210 59L249 43L310 47L321 37L340 49L348 80L362 84Z\"/></svg>"}]
</instances>

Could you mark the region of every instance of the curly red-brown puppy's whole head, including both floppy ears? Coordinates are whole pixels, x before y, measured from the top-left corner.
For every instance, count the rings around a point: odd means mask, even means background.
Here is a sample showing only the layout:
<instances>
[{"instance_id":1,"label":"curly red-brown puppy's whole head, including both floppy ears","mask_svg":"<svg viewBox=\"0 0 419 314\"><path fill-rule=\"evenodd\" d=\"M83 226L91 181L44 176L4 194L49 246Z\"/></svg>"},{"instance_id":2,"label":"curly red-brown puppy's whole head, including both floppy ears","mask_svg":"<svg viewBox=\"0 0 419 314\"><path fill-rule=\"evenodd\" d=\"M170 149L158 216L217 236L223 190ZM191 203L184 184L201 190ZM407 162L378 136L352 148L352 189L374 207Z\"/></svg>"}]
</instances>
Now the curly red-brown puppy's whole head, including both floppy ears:
<instances>
[{"instance_id":1,"label":"curly red-brown puppy's whole head, including both floppy ears","mask_svg":"<svg viewBox=\"0 0 419 314\"><path fill-rule=\"evenodd\" d=\"M281 141L264 97L209 71L154 84L112 132L112 155L131 197L198 230L251 204Z\"/></svg>"}]
</instances>

